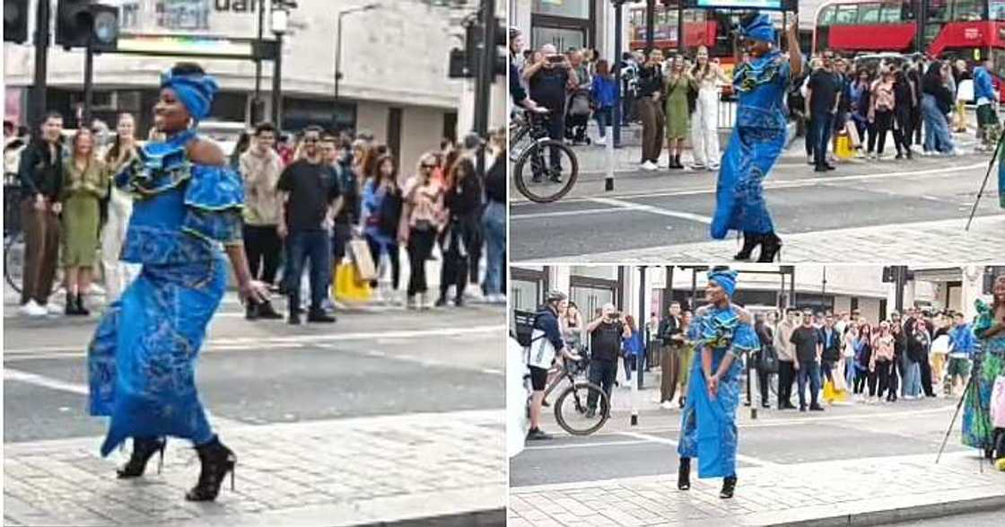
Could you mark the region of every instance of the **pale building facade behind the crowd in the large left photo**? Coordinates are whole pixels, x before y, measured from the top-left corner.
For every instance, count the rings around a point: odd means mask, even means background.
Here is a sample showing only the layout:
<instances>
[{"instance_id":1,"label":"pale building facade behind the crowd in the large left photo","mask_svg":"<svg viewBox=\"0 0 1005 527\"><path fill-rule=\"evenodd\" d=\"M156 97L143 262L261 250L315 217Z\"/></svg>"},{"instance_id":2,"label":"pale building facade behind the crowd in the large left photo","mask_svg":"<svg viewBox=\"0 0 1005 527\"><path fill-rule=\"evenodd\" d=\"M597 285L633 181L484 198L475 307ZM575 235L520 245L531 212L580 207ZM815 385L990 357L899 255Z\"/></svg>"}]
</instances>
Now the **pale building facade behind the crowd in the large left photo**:
<instances>
[{"instance_id":1,"label":"pale building facade behind the crowd in the large left photo","mask_svg":"<svg viewBox=\"0 0 1005 527\"><path fill-rule=\"evenodd\" d=\"M124 37L139 37L151 49L219 51L248 45L258 30L258 0L110 0L121 8ZM335 100L339 12L365 3L375 9L343 17L342 79ZM266 6L269 4L265 2ZM282 41L283 129L312 123L332 129L366 130L399 154L410 172L419 155L438 148L440 139L467 133L473 123L473 81L447 78L449 50L462 47L461 19L476 1L452 7L430 2L300 0L288 18ZM506 5L498 10L501 16ZM267 7L266 7L267 9ZM53 15L55 2L53 1ZM34 6L32 6L32 14ZM265 14L264 35L273 38ZM34 30L29 20L29 32ZM236 44L235 44L236 43ZM161 71L180 57L110 53L94 59L93 115L112 120L116 112L139 117L140 130L151 124ZM255 63L249 59L199 59L219 80L221 93L212 118L250 125ZM261 95L271 115L272 62L263 61ZM32 45L4 43L6 119L23 123L27 87L33 81ZM83 53L49 48L47 100L52 110L77 126L82 102ZM505 82L495 82L491 127L505 124Z\"/></svg>"}]
</instances>

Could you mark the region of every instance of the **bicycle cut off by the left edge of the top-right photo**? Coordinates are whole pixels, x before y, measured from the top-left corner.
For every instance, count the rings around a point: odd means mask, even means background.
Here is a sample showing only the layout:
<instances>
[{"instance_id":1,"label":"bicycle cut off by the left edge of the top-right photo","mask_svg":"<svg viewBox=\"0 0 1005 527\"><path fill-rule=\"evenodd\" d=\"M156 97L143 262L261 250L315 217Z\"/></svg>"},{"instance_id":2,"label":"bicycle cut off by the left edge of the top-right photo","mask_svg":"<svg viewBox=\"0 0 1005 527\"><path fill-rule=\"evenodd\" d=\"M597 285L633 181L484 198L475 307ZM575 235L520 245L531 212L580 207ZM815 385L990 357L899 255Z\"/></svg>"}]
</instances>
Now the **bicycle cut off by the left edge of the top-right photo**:
<instances>
[{"instance_id":1,"label":"bicycle cut off by the left edge of the top-right photo","mask_svg":"<svg viewBox=\"0 0 1005 527\"><path fill-rule=\"evenodd\" d=\"M510 124L510 161L517 189L537 203L551 203L572 190L579 177L576 153L562 140L551 139L545 129L548 111L527 110ZM551 154L555 159L549 159ZM551 162L551 161L554 161ZM530 163L530 177L525 167ZM564 173L563 166L568 167Z\"/></svg>"}]
</instances>

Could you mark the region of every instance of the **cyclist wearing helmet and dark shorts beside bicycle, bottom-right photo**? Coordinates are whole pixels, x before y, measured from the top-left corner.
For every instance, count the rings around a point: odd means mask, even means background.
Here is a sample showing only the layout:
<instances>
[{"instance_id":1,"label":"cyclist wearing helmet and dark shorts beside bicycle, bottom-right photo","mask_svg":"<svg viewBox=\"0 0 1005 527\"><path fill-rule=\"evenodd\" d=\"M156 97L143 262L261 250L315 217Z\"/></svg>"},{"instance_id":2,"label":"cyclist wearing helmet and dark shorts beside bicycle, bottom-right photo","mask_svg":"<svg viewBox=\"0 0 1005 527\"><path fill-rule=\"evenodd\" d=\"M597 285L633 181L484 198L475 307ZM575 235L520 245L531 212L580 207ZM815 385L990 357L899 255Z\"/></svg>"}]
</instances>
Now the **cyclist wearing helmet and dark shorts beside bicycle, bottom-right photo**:
<instances>
[{"instance_id":1,"label":"cyclist wearing helmet and dark shorts beside bicycle, bottom-right photo","mask_svg":"<svg viewBox=\"0 0 1005 527\"><path fill-rule=\"evenodd\" d=\"M527 432L528 441L551 438L551 435L541 430L540 423L548 370L552 367L555 356L561 353L566 358L580 360L579 355L566 348L559 329L559 315L564 314L568 306L569 297L561 291L553 291L545 297L545 304L538 308L534 317L531 347L527 357L527 365L531 370L531 387L534 390L531 396L531 429Z\"/></svg>"}]
</instances>

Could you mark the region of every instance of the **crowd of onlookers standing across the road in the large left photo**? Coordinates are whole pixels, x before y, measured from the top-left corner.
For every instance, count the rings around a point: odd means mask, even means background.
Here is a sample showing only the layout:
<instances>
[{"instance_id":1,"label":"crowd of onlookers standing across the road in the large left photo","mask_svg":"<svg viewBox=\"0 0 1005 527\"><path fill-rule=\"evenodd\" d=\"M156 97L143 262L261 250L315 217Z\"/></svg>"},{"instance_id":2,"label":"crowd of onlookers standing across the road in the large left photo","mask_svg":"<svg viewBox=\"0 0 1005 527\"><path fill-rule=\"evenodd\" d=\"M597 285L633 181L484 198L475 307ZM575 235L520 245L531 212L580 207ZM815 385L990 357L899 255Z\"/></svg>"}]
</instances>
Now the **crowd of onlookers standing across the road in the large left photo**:
<instances>
[{"instance_id":1,"label":"crowd of onlookers standing across the road in the large left photo","mask_svg":"<svg viewBox=\"0 0 1005 527\"><path fill-rule=\"evenodd\" d=\"M121 114L115 133L95 121L64 140L62 117L49 113L37 135L7 141L5 172L16 181L6 183L20 187L25 239L22 314L87 315L85 299L100 289L92 288L95 274L104 275L111 303L140 272L118 258L133 197L113 184L138 155L136 128L132 115ZM15 132L5 129L5 137ZM147 139L158 138L152 131ZM230 156L244 182L243 239L253 277L287 298L294 324L305 307L309 322L334 322L340 267L384 304L505 303L505 137L496 133L485 145L484 176L476 170L478 143L444 140L410 165L367 133L311 126L287 135L258 124ZM434 259L441 264L435 303L426 270ZM57 267L62 307L49 302ZM309 302L301 290L310 290ZM246 310L249 320L281 318L270 302Z\"/></svg>"}]
</instances>

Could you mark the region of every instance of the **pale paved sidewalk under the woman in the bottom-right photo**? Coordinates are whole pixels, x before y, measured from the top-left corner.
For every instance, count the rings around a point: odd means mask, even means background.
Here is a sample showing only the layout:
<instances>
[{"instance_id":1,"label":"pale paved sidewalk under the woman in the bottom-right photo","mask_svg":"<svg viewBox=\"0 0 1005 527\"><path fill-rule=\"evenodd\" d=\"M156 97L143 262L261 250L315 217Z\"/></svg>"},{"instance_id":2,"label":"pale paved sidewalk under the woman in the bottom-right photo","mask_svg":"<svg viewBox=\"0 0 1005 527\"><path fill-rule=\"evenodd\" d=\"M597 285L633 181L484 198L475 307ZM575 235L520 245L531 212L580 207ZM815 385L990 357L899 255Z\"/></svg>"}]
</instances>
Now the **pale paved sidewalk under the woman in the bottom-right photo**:
<instances>
[{"instance_id":1,"label":"pale paved sidewalk under the woman in the bottom-right photo","mask_svg":"<svg viewBox=\"0 0 1005 527\"><path fill-rule=\"evenodd\" d=\"M857 459L743 469L736 496L719 498L721 479L676 489L668 473L511 489L510 527L849 525L1005 506L1005 473L973 453ZM587 467L584 467L587 469Z\"/></svg>"}]
</instances>

